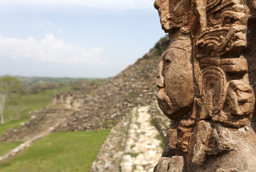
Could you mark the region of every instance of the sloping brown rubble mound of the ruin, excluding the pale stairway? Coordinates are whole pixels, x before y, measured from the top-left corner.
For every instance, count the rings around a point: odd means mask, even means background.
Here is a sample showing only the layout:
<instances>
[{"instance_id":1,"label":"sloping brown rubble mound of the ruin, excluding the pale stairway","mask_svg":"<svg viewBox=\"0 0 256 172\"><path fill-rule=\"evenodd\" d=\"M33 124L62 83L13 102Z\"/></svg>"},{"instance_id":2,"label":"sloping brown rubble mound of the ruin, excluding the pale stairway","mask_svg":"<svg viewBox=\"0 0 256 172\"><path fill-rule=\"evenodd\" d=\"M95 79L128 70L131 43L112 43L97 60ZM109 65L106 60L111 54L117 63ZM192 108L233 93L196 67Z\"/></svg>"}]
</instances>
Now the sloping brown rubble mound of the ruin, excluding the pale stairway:
<instances>
[{"instance_id":1,"label":"sloping brown rubble mound of the ruin, excluding the pale stairway","mask_svg":"<svg viewBox=\"0 0 256 172\"><path fill-rule=\"evenodd\" d=\"M54 132L112 128L134 106L155 100L157 65L168 44L162 38L149 53L103 83L88 83L81 91L55 95L50 105L33 112L19 130L7 130L1 142L24 142L52 127Z\"/></svg>"}]
</instances>

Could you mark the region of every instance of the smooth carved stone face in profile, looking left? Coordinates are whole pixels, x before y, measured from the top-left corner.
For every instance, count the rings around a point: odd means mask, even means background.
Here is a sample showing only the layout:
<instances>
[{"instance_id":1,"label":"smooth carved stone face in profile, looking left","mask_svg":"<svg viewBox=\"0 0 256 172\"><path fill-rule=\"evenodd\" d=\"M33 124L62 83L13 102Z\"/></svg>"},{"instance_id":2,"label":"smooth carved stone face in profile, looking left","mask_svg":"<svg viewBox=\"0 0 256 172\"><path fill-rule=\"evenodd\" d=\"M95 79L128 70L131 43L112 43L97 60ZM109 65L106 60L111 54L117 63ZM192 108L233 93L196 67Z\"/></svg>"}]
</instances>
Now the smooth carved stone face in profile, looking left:
<instances>
[{"instance_id":1,"label":"smooth carved stone face in profile, looking left","mask_svg":"<svg viewBox=\"0 0 256 172\"><path fill-rule=\"evenodd\" d=\"M177 119L189 112L194 100L189 35L174 34L159 64L156 83L159 107L168 118Z\"/></svg>"}]
</instances>

